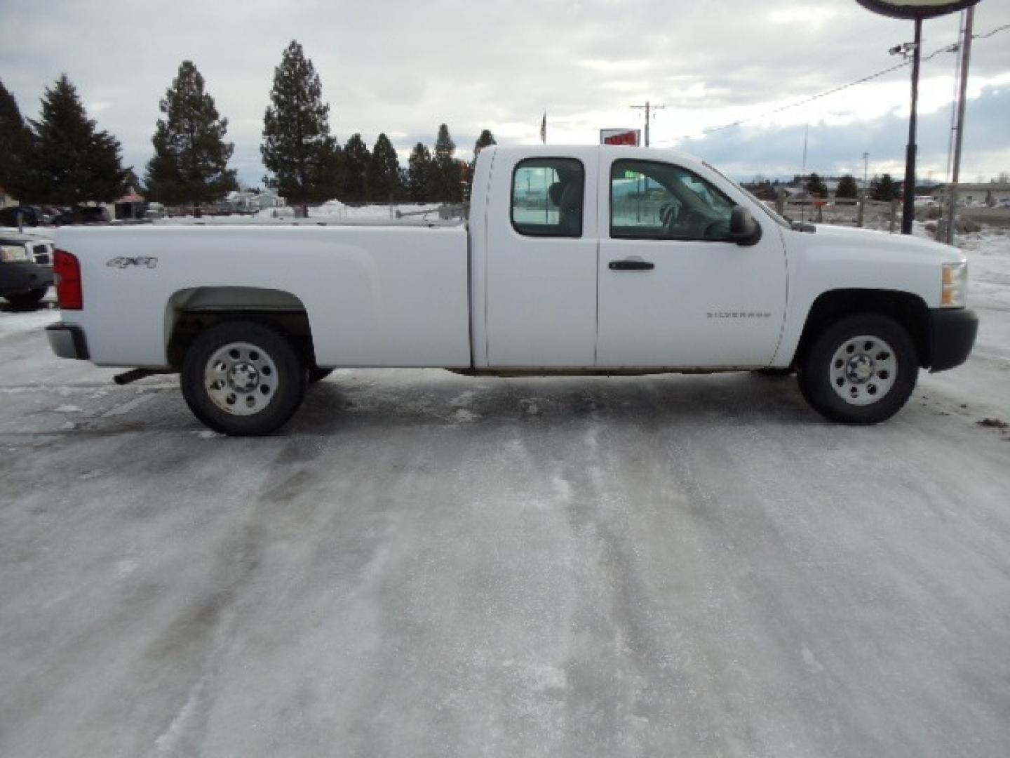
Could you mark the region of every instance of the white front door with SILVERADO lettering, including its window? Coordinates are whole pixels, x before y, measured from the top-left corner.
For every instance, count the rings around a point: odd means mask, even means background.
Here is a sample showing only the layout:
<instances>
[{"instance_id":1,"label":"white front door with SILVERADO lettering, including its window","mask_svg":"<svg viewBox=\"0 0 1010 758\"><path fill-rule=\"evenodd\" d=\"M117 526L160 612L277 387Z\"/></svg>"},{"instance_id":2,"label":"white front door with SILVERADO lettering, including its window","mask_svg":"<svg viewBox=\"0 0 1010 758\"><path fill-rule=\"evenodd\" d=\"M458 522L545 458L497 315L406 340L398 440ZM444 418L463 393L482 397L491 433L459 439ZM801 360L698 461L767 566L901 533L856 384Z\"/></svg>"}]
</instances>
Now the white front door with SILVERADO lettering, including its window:
<instances>
[{"instance_id":1,"label":"white front door with SILVERADO lettering, including its window","mask_svg":"<svg viewBox=\"0 0 1010 758\"><path fill-rule=\"evenodd\" d=\"M767 366L786 307L779 226L729 241L735 205L716 180L672 163L600 166L600 368ZM755 209L755 214L761 211Z\"/></svg>"}]
</instances>

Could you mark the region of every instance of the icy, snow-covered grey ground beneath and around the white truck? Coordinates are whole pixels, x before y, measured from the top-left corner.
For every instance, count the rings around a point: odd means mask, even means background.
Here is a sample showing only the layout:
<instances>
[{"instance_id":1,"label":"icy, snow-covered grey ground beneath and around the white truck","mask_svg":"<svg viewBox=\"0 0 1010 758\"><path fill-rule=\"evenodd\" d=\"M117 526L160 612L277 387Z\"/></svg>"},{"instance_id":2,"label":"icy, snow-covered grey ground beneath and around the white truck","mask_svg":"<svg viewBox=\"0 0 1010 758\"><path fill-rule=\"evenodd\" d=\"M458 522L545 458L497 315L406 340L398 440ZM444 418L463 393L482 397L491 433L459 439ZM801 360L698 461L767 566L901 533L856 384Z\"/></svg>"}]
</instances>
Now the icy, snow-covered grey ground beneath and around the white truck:
<instances>
[{"instance_id":1,"label":"icy, snow-covered grey ground beneath and around the white truck","mask_svg":"<svg viewBox=\"0 0 1010 758\"><path fill-rule=\"evenodd\" d=\"M747 374L340 371L232 440L0 312L0 755L1010 754L1010 238L849 429Z\"/></svg>"}]
</instances>

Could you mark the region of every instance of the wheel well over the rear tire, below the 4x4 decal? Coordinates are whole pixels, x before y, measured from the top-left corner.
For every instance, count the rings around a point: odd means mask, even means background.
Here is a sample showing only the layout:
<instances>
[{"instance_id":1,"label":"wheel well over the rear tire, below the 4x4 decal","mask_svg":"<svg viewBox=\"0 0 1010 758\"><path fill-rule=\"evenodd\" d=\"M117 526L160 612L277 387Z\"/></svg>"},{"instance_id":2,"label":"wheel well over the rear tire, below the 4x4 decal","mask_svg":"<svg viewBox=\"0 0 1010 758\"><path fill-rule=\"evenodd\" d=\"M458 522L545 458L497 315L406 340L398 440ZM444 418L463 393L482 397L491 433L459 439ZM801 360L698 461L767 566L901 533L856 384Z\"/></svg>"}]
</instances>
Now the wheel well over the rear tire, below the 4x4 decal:
<instances>
[{"instance_id":1,"label":"wheel well over the rear tire, below the 4x4 decal","mask_svg":"<svg viewBox=\"0 0 1010 758\"><path fill-rule=\"evenodd\" d=\"M169 365L182 369L193 339L223 321L258 321L289 338L309 366L315 348L308 311L297 297L282 290L260 287L195 287L169 298L165 317Z\"/></svg>"}]
</instances>

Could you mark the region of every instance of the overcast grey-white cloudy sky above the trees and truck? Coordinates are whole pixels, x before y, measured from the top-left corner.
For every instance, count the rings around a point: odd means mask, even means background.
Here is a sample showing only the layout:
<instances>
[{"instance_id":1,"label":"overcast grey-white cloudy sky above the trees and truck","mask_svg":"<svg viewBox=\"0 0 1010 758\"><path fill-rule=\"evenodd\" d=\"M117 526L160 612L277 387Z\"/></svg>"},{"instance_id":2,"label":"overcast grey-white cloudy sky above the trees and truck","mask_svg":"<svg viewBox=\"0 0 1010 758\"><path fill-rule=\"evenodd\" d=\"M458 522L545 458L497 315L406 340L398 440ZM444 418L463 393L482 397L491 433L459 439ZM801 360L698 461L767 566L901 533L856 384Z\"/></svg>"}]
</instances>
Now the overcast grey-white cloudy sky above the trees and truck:
<instances>
[{"instance_id":1,"label":"overcast grey-white cloudy sky above the trees and truck","mask_svg":"<svg viewBox=\"0 0 1010 758\"><path fill-rule=\"evenodd\" d=\"M982 0L976 31L1010 24L1010 2ZM500 143L595 143L642 125L628 106L666 104L652 144L708 158L739 178L807 170L900 173L909 69L815 103L703 135L893 66L912 22L854 0L0 0L0 79L24 115L67 73L101 128L142 175L158 103L192 60L217 108L239 178L261 183L260 141L274 68L298 39L322 78L341 140L385 131L405 160L449 126L469 159L482 128ZM956 39L957 15L927 21L926 53ZM954 56L923 64L920 176L947 165ZM1010 171L1010 30L977 39L963 180Z\"/></svg>"}]
</instances>

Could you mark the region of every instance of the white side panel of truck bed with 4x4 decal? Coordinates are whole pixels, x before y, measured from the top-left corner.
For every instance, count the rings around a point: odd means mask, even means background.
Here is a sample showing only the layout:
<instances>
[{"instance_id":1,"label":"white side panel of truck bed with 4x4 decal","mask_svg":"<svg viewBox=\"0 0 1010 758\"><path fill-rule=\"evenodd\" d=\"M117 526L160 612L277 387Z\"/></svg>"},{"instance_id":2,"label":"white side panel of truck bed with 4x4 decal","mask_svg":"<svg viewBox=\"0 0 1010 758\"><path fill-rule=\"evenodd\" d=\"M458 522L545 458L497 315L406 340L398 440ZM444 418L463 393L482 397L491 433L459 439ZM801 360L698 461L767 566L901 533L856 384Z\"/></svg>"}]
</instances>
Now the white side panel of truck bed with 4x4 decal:
<instances>
[{"instance_id":1,"label":"white side panel of truck bed with 4x4 decal","mask_svg":"<svg viewBox=\"0 0 1010 758\"><path fill-rule=\"evenodd\" d=\"M304 308L320 366L467 367L467 229L423 225L72 226L57 247L81 260L74 320L99 365L165 367L174 311L196 290L251 289Z\"/></svg>"}]
</instances>

